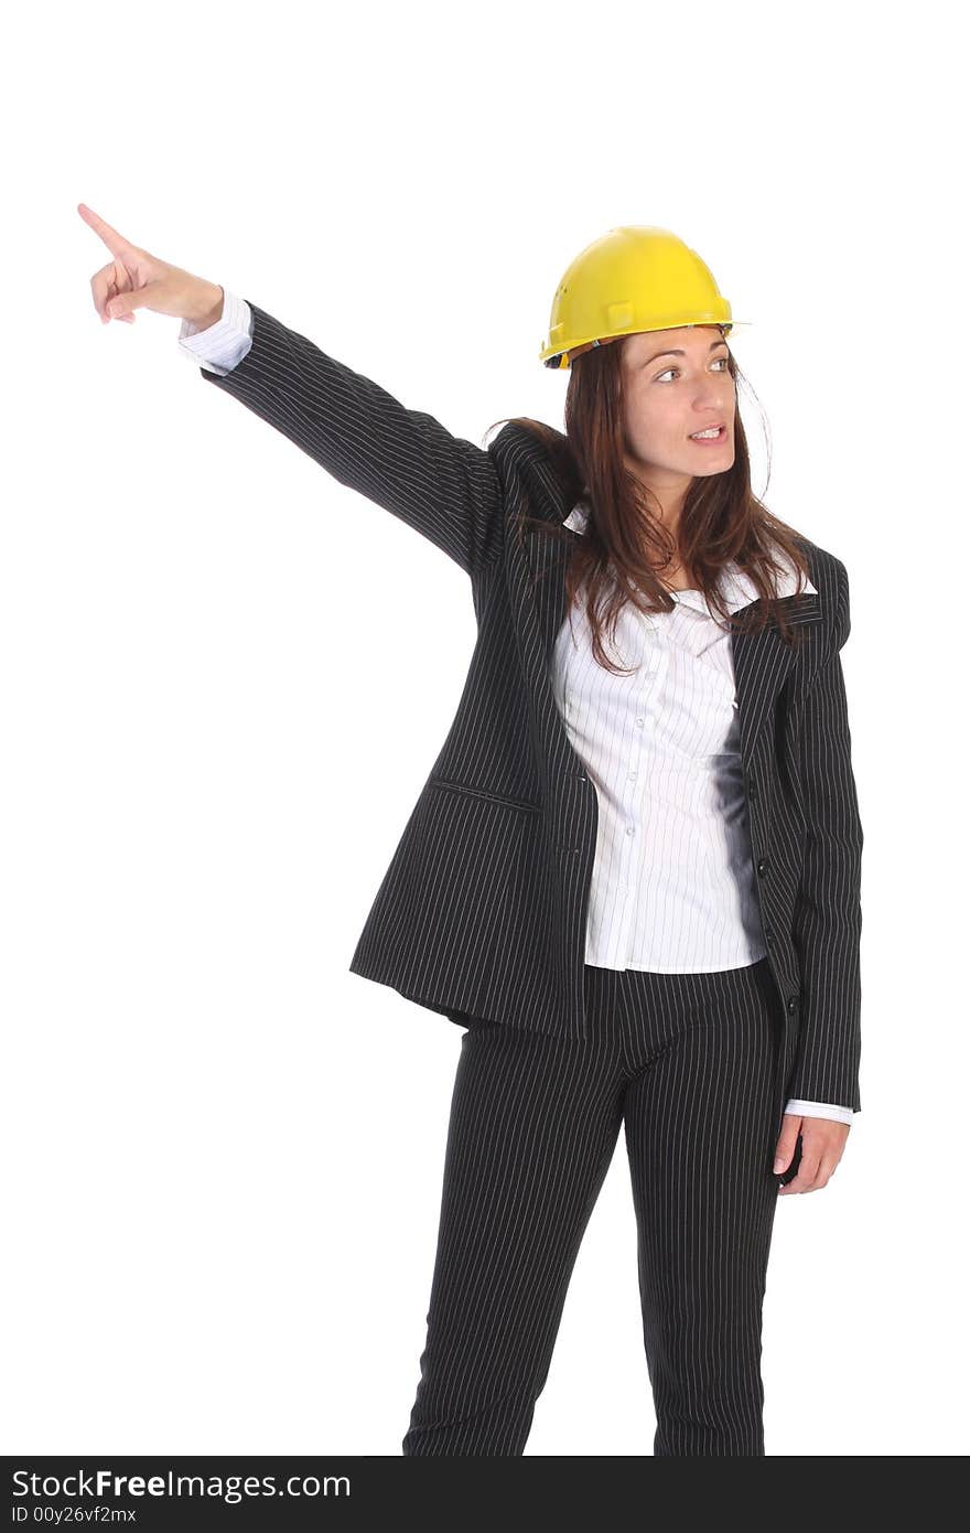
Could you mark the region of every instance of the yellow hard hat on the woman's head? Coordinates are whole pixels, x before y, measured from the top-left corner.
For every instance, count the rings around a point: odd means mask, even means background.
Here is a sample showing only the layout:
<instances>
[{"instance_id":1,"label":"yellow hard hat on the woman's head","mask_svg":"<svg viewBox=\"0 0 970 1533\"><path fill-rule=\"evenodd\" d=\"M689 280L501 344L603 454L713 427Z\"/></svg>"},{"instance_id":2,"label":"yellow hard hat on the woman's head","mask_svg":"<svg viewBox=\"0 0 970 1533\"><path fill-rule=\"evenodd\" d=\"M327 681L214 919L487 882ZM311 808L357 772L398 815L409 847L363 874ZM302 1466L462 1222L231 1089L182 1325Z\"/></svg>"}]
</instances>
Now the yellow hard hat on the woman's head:
<instances>
[{"instance_id":1,"label":"yellow hard hat on the woman's head","mask_svg":"<svg viewBox=\"0 0 970 1533\"><path fill-rule=\"evenodd\" d=\"M611 228L567 267L539 362L567 368L618 336L680 325L720 325L728 336L748 320L731 317L709 268L677 235L651 224Z\"/></svg>"}]
</instances>

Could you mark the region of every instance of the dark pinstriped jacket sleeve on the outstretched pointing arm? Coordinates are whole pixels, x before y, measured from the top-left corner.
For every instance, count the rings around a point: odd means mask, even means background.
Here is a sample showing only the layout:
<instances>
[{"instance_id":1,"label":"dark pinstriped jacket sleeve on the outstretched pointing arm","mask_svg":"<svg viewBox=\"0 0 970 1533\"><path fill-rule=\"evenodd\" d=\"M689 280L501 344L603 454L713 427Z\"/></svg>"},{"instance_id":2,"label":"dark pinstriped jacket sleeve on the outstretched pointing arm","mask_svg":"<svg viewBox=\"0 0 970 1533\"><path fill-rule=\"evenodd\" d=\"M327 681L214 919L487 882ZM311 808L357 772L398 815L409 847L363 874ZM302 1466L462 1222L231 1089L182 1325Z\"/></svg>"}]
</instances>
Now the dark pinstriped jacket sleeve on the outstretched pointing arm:
<instances>
[{"instance_id":1,"label":"dark pinstriped jacket sleeve on the outstretched pointing arm","mask_svg":"<svg viewBox=\"0 0 970 1533\"><path fill-rule=\"evenodd\" d=\"M466 573L496 552L503 497L489 454L406 409L251 299L253 343L231 371L199 368L326 469L423 533Z\"/></svg>"}]
</instances>

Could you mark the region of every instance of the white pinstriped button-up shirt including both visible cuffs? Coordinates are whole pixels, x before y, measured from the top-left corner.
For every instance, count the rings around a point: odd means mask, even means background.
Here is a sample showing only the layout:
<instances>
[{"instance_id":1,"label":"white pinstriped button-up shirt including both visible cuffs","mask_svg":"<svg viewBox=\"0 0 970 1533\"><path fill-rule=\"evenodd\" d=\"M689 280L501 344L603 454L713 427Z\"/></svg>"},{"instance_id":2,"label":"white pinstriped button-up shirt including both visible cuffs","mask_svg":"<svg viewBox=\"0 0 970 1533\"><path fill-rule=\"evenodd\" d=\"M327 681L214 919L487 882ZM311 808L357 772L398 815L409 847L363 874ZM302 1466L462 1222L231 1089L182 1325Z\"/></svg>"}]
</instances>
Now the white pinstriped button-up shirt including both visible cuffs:
<instances>
[{"instance_id":1,"label":"white pinstriped button-up shirt including both visible cuffs","mask_svg":"<svg viewBox=\"0 0 970 1533\"><path fill-rule=\"evenodd\" d=\"M251 346L245 299L224 288L207 330L182 320L179 346L211 373L231 371ZM579 501L567 526L582 532ZM728 607L754 601L742 570L723 576ZM794 590L792 578L782 595ZM815 587L805 587L814 592ZM599 834L585 961L659 973L736 969L765 957L751 865L729 635L699 592L674 592L670 613L628 602L616 645L630 676L593 661L588 627L573 609L552 656L556 704L596 786ZM607 641L608 642L608 641ZM852 1122L852 1108L789 1101L789 1113Z\"/></svg>"}]
</instances>

